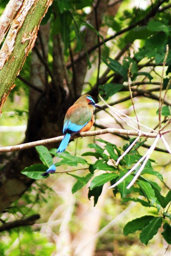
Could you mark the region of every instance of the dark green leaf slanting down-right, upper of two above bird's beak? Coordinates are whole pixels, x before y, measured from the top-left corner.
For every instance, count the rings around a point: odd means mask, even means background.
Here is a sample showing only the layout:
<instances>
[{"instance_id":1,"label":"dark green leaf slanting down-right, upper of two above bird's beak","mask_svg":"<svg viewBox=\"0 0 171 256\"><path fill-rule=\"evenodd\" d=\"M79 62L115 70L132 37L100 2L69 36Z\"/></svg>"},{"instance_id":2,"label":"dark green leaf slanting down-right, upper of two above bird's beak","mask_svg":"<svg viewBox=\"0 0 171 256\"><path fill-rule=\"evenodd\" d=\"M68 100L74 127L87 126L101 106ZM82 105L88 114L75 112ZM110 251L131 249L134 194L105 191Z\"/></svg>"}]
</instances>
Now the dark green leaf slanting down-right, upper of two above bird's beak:
<instances>
[{"instance_id":1,"label":"dark green leaf slanting down-right, upper of two above bird's beak","mask_svg":"<svg viewBox=\"0 0 171 256\"><path fill-rule=\"evenodd\" d=\"M117 61L117 60L113 60L111 58L108 58L108 60L109 60L109 63L103 59L104 63L108 66L108 68L113 70L117 74L121 75L124 78L124 80L127 81L127 70L126 70L126 68L124 68L124 66L122 66L120 64L120 62Z\"/></svg>"}]
</instances>

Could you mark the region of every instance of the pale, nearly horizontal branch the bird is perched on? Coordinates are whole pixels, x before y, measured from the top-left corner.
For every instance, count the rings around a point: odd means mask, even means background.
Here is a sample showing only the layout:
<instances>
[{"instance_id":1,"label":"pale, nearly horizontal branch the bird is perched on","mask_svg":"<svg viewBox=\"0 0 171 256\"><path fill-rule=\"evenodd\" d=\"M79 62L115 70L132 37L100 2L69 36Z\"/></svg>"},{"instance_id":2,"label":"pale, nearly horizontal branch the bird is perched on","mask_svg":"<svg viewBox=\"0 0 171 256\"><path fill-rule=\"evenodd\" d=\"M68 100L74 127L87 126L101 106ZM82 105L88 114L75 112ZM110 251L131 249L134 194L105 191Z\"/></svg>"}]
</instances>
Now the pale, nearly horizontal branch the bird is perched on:
<instances>
[{"instance_id":1,"label":"pale, nearly horizontal branch the bird is perched on","mask_svg":"<svg viewBox=\"0 0 171 256\"><path fill-rule=\"evenodd\" d=\"M117 129L117 128L106 128L103 130L96 130L96 131L89 131L89 132L81 132L80 134L76 134L71 137L71 139L79 138L79 137L87 137L87 136L96 136L106 133L112 133L112 134L124 134L129 136L139 136L139 131L133 131L133 130L123 130L123 129ZM162 134L163 132L161 132ZM147 133L141 131L141 137L150 137L155 138L156 133ZM15 146L6 146L6 147L0 147L0 152L10 152L10 151L17 151L17 150L23 150L26 148L32 148L39 145L47 145L50 143L57 143L62 141L63 136L58 136L50 139L42 139L40 141L34 141L34 142L28 142L23 143Z\"/></svg>"}]
</instances>

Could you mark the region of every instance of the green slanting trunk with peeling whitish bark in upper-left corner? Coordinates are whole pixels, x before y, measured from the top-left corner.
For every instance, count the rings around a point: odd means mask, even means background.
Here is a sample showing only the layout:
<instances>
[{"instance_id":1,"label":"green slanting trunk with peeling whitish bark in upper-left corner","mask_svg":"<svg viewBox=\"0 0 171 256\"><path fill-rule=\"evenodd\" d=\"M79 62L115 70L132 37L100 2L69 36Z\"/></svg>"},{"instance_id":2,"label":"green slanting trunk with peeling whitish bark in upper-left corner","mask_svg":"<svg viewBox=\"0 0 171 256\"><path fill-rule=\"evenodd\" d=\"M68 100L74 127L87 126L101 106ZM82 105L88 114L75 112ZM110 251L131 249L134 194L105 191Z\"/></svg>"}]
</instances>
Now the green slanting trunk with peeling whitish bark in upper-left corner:
<instances>
[{"instance_id":1,"label":"green slanting trunk with peeling whitish bark in upper-left corner","mask_svg":"<svg viewBox=\"0 0 171 256\"><path fill-rule=\"evenodd\" d=\"M14 87L29 50L34 46L40 22L52 0L25 0L21 5L0 50L0 112Z\"/></svg>"}]
</instances>

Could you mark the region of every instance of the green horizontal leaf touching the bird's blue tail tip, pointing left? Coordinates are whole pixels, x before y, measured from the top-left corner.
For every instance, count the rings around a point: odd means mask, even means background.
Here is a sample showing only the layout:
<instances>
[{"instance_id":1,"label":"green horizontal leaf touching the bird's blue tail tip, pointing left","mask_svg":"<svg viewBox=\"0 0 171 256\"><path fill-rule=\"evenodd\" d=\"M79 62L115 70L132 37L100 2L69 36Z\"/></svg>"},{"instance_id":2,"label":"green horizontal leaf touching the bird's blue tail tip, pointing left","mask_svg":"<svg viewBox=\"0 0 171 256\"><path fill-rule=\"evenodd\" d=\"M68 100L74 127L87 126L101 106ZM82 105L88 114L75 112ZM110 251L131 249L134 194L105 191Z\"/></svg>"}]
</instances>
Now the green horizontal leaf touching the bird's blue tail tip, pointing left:
<instances>
[{"instance_id":1,"label":"green horizontal leaf touching the bird's blue tail tip, pointing left","mask_svg":"<svg viewBox=\"0 0 171 256\"><path fill-rule=\"evenodd\" d=\"M35 180L40 180L40 179L46 179L49 176L49 174L47 176L42 176L41 175L47 169L48 169L47 166L45 166L44 164L37 163L37 164L32 164L31 166L28 166L28 167L24 168L21 171L21 173L26 175L28 178L35 179Z\"/></svg>"}]
</instances>

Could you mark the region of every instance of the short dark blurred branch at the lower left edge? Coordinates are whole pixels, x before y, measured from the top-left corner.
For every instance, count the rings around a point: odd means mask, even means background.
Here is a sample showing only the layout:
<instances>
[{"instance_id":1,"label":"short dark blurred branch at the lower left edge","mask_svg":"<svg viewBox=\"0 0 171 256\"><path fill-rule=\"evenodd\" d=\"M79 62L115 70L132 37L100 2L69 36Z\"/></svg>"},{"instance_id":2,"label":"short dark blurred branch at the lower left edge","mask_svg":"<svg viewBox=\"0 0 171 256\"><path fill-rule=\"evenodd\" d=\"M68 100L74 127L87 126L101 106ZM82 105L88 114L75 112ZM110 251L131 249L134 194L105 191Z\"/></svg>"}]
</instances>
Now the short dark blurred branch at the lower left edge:
<instances>
[{"instance_id":1,"label":"short dark blurred branch at the lower left edge","mask_svg":"<svg viewBox=\"0 0 171 256\"><path fill-rule=\"evenodd\" d=\"M33 225L35 224L35 221L40 218L39 214L34 214L28 218L25 218L23 220L14 220L14 221L9 221L4 223L3 225L0 226L0 232L13 229L16 227L21 227L21 226L28 226L28 225Z\"/></svg>"}]
</instances>

